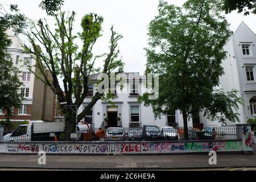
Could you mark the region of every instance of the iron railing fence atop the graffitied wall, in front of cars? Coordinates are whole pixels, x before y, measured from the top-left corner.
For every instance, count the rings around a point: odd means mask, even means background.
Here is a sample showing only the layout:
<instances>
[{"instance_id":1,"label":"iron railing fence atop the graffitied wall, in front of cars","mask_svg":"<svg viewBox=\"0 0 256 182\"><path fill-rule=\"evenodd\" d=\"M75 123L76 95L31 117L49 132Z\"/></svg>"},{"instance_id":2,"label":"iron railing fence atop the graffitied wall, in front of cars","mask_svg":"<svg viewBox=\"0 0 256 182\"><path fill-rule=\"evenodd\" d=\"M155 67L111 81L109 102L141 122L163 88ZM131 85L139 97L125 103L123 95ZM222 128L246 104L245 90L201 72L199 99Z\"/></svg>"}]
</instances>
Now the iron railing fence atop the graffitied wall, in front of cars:
<instances>
[{"instance_id":1,"label":"iron railing fence atop the graffitied wall, in front of cars","mask_svg":"<svg viewBox=\"0 0 256 182\"><path fill-rule=\"evenodd\" d=\"M236 127L189 129L188 140L238 139ZM57 130L18 130L7 134L0 131L0 141L64 141L65 136L71 141L142 141L142 140L185 140L183 129L142 130L140 128L109 128L77 130L76 134ZM72 136L72 137L71 137Z\"/></svg>"}]
</instances>

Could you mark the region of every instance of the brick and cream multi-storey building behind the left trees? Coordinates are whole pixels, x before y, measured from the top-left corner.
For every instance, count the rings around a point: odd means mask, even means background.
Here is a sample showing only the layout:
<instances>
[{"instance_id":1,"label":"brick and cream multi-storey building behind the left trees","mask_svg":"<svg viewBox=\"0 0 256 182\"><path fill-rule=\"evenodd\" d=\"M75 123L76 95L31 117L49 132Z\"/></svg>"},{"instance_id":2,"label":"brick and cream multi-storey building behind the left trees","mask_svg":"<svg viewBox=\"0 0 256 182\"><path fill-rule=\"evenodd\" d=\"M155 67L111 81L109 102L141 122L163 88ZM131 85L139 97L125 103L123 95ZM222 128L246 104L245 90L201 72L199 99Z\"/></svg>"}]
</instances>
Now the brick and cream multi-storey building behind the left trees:
<instances>
[{"instance_id":1,"label":"brick and cream multi-storey building behind the left trees","mask_svg":"<svg viewBox=\"0 0 256 182\"><path fill-rule=\"evenodd\" d=\"M36 60L32 59L30 55L20 52L22 42L18 36L11 31L8 31L8 35L12 44L7 52L10 53L15 67L21 71L20 80L24 86L20 88L20 92L26 98L19 108L13 109L14 116L11 117L11 121L54 121L55 94L24 65L24 63L35 65ZM39 73L38 68L32 67L32 69L33 72ZM48 73L47 70L46 72ZM49 73L48 76L50 76ZM0 111L0 119L5 119L5 111Z\"/></svg>"}]
</instances>

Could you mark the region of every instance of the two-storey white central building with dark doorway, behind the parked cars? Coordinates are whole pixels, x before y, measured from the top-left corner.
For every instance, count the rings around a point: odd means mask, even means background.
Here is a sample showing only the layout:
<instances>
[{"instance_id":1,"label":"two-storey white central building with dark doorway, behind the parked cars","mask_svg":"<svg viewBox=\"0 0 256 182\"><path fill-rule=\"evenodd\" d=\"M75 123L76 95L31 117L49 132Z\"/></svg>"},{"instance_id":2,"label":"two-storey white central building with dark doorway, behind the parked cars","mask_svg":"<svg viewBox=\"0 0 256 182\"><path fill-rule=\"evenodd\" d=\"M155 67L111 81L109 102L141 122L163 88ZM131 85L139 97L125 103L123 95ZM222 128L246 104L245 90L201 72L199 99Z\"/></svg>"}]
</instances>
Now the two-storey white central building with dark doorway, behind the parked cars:
<instances>
[{"instance_id":1,"label":"two-storey white central building with dark doorway, behind the parked cars","mask_svg":"<svg viewBox=\"0 0 256 182\"><path fill-rule=\"evenodd\" d=\"M114 105L101 100L97 101L84 121L93 123L95 128L120 126L127 129L129 127L142 127L142 125L166 126L167 117L155 119L152 108L137 101L138 95L146 92L146 88L143 86L143 80L146 77L140 76L139 73L125 73L125 75L127 77L127 92L123 90L122 93L119 93L119 89L116 87L112 91ZM90 76L89 92L84 103L79 107L79 113L96 92L97 77L98 74Z\"/></svg>"}]
</instances>

